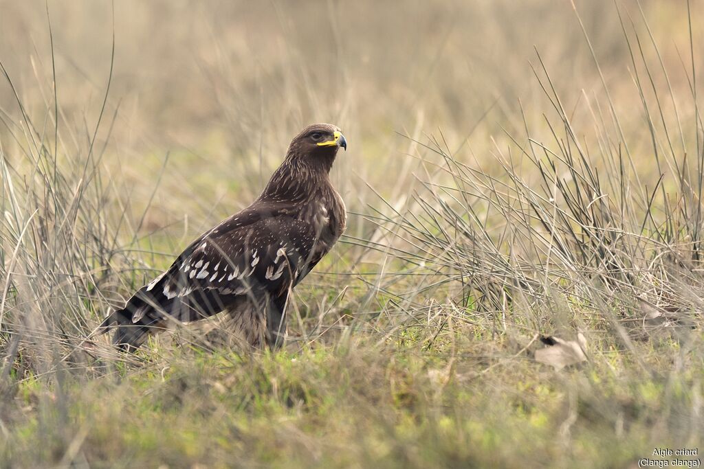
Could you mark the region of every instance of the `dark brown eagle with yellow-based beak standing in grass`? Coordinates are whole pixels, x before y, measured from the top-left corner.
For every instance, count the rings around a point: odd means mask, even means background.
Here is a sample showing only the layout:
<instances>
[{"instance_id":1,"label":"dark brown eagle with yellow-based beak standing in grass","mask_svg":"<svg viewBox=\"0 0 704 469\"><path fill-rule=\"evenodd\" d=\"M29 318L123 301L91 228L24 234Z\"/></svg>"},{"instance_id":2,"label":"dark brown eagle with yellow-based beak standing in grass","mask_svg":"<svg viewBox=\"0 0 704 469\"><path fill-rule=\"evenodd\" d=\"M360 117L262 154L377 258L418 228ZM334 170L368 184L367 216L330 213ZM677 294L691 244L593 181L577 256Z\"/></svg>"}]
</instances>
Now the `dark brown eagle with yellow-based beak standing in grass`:
<instances>
[{"instance_id":1,"label":"dark brown eagle with yellow-based beak standing in grass","mask_svg":"<svg viewBox=\"0 0 704 469\"><path fill-rule=\"evenodd\" d=\"M252 347L279 347L291 289L345 229L346 210L329 172L347 141L332 124L313 124L289 145L284 162L249 207L203 233L110 314L99 333L133 352L174 323L223 313Z\"/></svg>"}]
</instances>

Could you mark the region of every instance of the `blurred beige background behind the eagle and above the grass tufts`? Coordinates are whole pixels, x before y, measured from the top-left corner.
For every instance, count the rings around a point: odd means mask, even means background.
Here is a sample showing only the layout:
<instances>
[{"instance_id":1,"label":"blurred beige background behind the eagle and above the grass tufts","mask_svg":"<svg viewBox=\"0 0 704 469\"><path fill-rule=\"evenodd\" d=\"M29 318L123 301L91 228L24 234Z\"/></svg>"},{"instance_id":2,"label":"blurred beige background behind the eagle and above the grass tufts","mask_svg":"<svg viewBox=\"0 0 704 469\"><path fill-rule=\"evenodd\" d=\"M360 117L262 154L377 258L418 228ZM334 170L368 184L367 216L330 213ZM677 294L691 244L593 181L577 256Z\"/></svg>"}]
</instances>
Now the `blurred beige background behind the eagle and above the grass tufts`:
<instances>
[{"instance_id":1,"label":"blurred beige background behind the eagle and above the grass tufts","mask_svg":"<svg viewBox=\"0 0 704 469\"><path fill-rule=\"evenodd\" d=\"M686 2L575 6L622 126L643 122L640 113L628 113L640 100L622 27L630 31L636 24L646 56L659 60L648 47L641 15L650 20L672 87L687 97ZM692 18L700 18L702 5L693 2L691 8ZM0 11L0 60L28 115L47 127L53 127L55 67L64 156L77 153L92 135L110 78L95 145L106 148L102 162L120 191L148 200L153 184L144 178L156 180L170 152L145 229L189 213L199 220L198 231L205 227L201 222L212 221L204 218L222 218L249 203L291 137L310 122L334 122L348 137L350 147L334 177L355 211L374 197L366 184L391 198L401 186L413 186L417 148L403 135L427 141L441 133L453 150L470 143L460 158L486 161L491 139L501 146L507 133L522 133L520 104L536 131L542 131L543 113L551 113L532 72L532 66L541 69L538 53L562 104L574 112L573 122L586 123L581 131L590 131L592 113L599 110L579 102L604 97L570 1L178 0L113 6L103 0L4 0ZM696 34L693 43L700 44ZM653 79L665 84L662 75ZM6 122L18 118L6 83L0 106ZM680 112L693 111L683 106ZM7 130L0 135L8 158L17 160Z\"/></svg>"}]
</instances>

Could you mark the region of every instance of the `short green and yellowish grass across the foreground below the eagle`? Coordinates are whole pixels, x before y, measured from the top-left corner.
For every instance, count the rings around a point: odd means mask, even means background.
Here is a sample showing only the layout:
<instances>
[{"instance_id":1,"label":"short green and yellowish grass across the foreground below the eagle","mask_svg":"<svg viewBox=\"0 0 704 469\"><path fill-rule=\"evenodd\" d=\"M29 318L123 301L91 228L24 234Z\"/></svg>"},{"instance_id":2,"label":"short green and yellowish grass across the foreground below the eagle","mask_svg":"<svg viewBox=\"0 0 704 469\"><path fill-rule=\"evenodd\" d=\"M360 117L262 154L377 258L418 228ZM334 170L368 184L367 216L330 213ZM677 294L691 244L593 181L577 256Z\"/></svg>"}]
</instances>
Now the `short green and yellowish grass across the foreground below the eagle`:
<instances>
[{"instance_id":1,"label":"short green and yellowish grass across the foreground below the eagle","mask_svg":"<svg viewBox=\"0 0 704 469\"><path fill-rule=\"evenodd\" d=\"M432 354L408 342L182 350L99 380L25 380L4 456L58 463L79 444L76 462L96 467L589 468L699 443L704 366L676 345L638 347L662 373L596 350L589 366L557 373L508 354L501 338L443 341ZM678 360L681 370L665 371Z\"/></svg>"}]
</instances>

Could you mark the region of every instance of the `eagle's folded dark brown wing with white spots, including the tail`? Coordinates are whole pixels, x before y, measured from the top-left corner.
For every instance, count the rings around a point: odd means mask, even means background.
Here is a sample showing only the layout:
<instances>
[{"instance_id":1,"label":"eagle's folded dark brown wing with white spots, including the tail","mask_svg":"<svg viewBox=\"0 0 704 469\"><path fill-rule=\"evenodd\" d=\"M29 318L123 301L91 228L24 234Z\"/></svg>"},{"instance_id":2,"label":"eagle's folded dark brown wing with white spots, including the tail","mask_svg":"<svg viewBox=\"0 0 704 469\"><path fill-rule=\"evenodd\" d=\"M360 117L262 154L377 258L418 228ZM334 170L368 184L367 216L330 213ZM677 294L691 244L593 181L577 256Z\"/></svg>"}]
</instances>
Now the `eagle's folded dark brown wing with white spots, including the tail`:
<instances>
[{"instance_id":1,"label":"eagle's folded dark brown wing with white spots, including the tail","mask_svg":"<svg viewBox=\"0 0 704 469\"><path fill-rule=\"evenodd\" d=\"M144 285L101 324L119 327L115 343L139 339L168 321L196 321L238 302L285 298L324 252L318 230L294 212L250 207L191 243L170 268Z\"/></svg>"}]
</instances>

